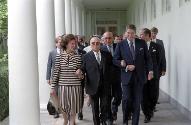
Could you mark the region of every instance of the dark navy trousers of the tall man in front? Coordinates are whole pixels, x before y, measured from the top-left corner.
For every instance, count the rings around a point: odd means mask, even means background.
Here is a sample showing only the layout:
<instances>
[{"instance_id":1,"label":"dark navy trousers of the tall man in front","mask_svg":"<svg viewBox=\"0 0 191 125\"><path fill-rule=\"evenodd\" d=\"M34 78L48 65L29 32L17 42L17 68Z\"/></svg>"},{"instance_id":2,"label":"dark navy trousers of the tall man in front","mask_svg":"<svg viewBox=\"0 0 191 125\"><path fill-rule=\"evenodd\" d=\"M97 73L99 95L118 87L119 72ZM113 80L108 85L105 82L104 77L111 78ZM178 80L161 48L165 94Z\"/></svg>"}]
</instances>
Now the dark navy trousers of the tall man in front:
<instances>
[{"instance_id":1,"label":"dark navy trousers of the tall man in front","mask_svg":"<svg viewBox=\"0 0 191 125\"><path fill-rule=\"evenodd\" d=\"M143 83L133 74L127 85L122 85L123 122L128 124L129 112L132 112L132 125L139 124L140 104Z\"/></svg>"}]
</instances>

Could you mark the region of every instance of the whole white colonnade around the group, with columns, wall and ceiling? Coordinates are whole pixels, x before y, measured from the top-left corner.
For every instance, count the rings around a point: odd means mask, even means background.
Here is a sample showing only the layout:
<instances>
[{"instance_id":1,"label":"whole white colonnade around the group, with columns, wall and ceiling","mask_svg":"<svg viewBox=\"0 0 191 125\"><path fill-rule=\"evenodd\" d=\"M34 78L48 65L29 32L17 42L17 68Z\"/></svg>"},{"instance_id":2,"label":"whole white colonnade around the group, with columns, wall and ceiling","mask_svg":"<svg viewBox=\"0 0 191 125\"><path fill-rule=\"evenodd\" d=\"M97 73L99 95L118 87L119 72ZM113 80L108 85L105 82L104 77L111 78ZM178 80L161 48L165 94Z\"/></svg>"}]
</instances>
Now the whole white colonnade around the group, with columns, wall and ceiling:
<instances>
[{"instance_id":1,"label":"whole white colonnade around the group, with columns, wall and ceiling","mask_svg":"<svg viewBox=\"0 0 191 125\"><path fill-rule=\"evenodd\" d=\"M190 0L8 0L10 125L54 122L44 110L50 92L46 65L56 36L73 33L88 39L107 30L122 35L130 23L137 35L141 28L157 27L166 50L167 72L160 89L170 101L161 98L150 124L190 125L190 12ZM85 110L85 123L92 124L90 110Z\"/></svg>"}]
</instances>

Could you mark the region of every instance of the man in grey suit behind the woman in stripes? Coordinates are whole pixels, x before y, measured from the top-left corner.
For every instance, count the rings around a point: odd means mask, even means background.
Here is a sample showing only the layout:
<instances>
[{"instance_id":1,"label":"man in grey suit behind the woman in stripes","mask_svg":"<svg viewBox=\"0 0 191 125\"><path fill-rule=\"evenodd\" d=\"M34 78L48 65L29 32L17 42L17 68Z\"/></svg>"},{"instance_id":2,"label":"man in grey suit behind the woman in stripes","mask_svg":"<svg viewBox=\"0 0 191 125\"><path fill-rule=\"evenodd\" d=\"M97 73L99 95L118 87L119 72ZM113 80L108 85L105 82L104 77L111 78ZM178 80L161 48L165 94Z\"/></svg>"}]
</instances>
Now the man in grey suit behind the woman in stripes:
<instances>
[{"instance_id":1,"label":"man in grey suit behind the woman in stripes","mask_svg":"<svg viewBox=\"0 0 191 125\"><path fill-rule=\"evenodd\" d=\"M55 65L56 55L60 54L62 37L58 36L55 42L56 42L56 48L50 51L49 57L48 57L48 63L47 63L46 80L49 85L51 84L51 77L52 77L52 72ZM57 91L57 94L58 94L58 91ZM59 118L59 113L57 111L54 115L54 118Z\"/></svg>"}]
</instances>

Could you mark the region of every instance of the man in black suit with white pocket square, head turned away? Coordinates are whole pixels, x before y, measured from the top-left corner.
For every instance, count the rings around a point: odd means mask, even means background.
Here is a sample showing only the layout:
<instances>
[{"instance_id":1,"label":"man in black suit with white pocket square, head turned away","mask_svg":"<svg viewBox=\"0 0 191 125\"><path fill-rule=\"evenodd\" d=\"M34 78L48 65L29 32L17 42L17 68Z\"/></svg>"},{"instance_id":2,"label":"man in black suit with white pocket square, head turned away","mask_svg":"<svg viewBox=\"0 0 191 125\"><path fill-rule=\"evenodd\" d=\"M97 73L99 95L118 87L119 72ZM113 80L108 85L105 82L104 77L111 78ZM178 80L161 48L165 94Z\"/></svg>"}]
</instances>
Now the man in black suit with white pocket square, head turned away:
<instances>
[{"instance_id":1,"label":"man in black suit with white pocket square, head turned away","mask_svg":"<svg viewBox=\"0 0 191 125\"><path fill-rule=\"evenodd\" d=\"M151 117L153 116L153 111L155 107L155 99L157 91L156 82L160 78L159 67L162 55L161 55L161 46L151 41L151 31L149 29L147 28L142 29L140 33L140 38L147 43L147 47L153 63L153 72L154 72L153 79L148 80L147 83L144 84L143 99L141 103L141 107L145 115L144 122L148 123L150 122Z\"/></svg>"}]
</instances>

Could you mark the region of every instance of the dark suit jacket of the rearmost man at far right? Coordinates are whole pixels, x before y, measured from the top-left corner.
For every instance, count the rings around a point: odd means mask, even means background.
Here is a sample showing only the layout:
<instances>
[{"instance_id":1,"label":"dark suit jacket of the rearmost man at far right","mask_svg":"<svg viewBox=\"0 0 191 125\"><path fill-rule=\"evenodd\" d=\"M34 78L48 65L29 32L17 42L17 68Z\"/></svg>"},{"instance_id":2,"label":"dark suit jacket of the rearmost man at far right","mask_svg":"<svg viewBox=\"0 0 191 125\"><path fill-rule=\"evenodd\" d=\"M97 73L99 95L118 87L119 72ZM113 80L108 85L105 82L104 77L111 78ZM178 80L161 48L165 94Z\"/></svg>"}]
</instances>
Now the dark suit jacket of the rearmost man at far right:
<instances>
[{"instance_id":1,"label":"dark suit jacket of the rearmost man at far right","mask_svg":"<svg viewBox=\"0 0 191 125\"><path fill-rule=\"evenodd\" d=\"M156 39L156 43L161 46L162 60L161 60L160 67L159 67L159 70L160 70L160 73L161 73L162 71L166 71L165 48L164 48L164 44L163 44L162 40Z\"/></svg>"}]
</instances>

